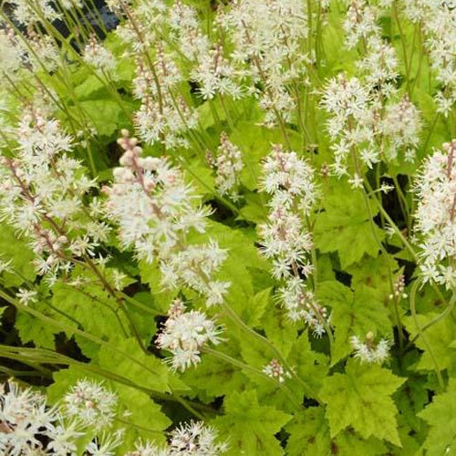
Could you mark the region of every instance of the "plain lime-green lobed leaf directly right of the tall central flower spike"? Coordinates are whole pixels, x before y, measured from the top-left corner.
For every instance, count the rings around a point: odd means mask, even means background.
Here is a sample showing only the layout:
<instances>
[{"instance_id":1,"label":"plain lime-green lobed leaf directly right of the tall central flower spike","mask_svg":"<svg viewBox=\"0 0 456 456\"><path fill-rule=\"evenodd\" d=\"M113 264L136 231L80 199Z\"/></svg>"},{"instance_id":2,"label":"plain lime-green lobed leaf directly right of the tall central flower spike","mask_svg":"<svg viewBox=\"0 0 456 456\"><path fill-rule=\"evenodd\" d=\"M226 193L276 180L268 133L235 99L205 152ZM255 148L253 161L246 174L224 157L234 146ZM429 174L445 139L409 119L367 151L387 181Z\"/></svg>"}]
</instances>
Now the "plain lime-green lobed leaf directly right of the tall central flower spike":
<instances>
[{"instance_id":1,"label":"plain lime-green lobed leaf directly right of the tall central flower spike","mask_svg":"<svg viewBox=\"0 0 456 456\"><path fill-rule=\"evenodd\" d=\"M360 192L337 186L337 194L325 197L325 211L316 217L316 248L322 253L337 252L342 269L358 262L364 254L377 257L378 240L385 233L369 220L368 209ZM378 209L371 206L372 216ZM374 231L376 236L374 235Z\"/></svg>"}]
</instances>

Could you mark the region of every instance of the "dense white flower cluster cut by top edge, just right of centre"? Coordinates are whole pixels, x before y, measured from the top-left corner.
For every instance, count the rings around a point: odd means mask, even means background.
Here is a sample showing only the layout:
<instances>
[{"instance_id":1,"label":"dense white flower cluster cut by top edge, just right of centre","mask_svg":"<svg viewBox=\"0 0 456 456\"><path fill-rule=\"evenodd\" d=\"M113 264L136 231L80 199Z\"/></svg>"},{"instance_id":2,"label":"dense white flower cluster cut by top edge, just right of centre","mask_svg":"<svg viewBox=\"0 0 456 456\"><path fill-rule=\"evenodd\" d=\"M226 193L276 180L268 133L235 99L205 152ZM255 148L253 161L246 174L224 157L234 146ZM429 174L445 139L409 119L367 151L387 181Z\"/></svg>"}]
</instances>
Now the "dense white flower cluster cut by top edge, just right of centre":
<instances>
[{"instance_id":1,"label":"dense white flower cluster cut by top edge, just right of centre","mask_svg":"<svg viewBox=\"0 0 456 456\"><path fill-rule=\"evenodd\" d=\"M300 0L238 0L219 17L234 46L233 65L239 75L250 78L246 91L260 98L268 127L291 120L296 108L289 86L302 84L311 60L301 51L307 37L306 17L305 2Z\"/></svg>"}]
</instances>

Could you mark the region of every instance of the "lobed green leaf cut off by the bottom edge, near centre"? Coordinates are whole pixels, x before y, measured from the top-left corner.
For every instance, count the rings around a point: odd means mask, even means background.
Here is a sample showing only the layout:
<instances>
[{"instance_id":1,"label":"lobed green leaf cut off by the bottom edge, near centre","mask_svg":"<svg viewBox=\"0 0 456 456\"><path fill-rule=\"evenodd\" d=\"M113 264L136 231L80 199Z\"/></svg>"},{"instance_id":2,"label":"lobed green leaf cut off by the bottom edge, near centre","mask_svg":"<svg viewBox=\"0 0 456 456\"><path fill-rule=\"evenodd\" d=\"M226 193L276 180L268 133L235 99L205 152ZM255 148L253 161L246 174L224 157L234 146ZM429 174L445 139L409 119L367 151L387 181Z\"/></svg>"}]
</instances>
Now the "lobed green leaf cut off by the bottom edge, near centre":
<instances>
[{"instance_id":1,"label":"lobed green leaf cut off by the bottom edge, near centre","mask_svg":"<svg viewBox=\"0 0 456 456\"><path fill-rule=\"evenodd\" d=\"M291 415L270 406L260 406L254 390L234 392L224 400L225 414L212 421L229 436L227 455L276 456L284 454L275 433L291 420Z\"/></svg>"}]
</instances>

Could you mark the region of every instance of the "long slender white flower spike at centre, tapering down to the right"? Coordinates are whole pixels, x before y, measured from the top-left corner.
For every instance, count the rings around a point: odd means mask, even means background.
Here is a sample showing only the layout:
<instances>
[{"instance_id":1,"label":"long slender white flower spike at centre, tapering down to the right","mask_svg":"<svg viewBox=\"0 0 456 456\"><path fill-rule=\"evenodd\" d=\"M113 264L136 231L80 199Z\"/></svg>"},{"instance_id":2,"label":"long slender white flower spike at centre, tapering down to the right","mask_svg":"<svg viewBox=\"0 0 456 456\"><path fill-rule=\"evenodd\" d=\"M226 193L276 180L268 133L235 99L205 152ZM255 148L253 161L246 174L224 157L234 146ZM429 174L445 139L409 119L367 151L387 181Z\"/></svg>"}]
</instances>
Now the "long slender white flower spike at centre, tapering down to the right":
<instances>
[{"instance_id":1,"label":"long slender white flower spike at centre, tapering down to the right","mask_svg":"<svg viewBox=\"0 0 456 456\"><path fill-rule=\"evenodd\" d=\"M273 261L273 275L285 284L279 289L280 302L293 320L305 320L321 336L327 323L326 310L316 303L302 278L312 274L311 233L308 216L316 202L314 171L295 152L281 146L266 157L261 190L271 195L268 222L259 225L260 252Z\"/></svg>"}]
</instances>

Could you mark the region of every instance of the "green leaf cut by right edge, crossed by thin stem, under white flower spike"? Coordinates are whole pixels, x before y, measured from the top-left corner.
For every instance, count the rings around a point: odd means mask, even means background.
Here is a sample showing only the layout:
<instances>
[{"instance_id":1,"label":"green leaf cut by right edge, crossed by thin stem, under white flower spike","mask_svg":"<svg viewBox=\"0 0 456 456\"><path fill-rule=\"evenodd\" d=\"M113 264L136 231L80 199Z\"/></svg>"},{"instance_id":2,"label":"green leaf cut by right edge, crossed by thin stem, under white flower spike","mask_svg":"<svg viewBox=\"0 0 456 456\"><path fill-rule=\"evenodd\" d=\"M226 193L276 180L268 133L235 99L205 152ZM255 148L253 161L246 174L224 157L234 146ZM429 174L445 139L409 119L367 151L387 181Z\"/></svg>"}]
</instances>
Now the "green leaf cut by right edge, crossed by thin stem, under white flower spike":
<instances>
[{"instance_id":1,"label":"green leaf cut by right edge, crossed by thin stem, under white flower spike","mask_svg":"<svg viewBox=\"0 0 456 456\"><path fill-rule=\"evenodd\" d=\"M439 314L418 315L417 320L420 327L424 327ZM418 327L412 316L404 318L404 323L409 331L410 336L417 337ZM415 368L434 370L437 367L440 370L448 368L450 371L456 368L456 350L454 347L454 332L456 324L451 316L441 319L436 324L430 326L423 333L422 337L418 337L415 345L423 350L420 361ZM423 338L424 337L424 338ZM430 352L431 350L431 352Z\"/></svg>"}]
</instances>

